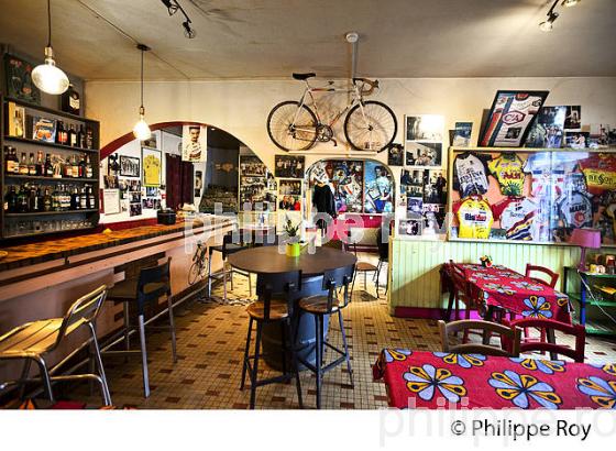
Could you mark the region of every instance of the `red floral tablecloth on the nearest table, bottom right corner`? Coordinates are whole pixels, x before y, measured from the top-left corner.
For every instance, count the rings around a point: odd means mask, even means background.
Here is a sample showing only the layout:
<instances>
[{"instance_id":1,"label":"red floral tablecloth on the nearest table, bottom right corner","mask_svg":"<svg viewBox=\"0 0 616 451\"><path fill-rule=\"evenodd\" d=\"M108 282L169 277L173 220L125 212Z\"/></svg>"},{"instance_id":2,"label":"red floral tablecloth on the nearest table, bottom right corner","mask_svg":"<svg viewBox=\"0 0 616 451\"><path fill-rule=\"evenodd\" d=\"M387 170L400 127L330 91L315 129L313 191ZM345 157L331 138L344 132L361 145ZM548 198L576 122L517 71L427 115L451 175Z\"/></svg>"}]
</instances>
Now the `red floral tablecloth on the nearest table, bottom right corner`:
<instances>
[{"instance_id":1,"label":"red floral tablecloth on the nearest table, bottom right corner","mask_svg":"<svg viewBox=\"0 0 616 451\"><path fill-rule=\"evenodd\" d=\"M397 408L616 408L616 364L384 349L373 373Z\"/></svg>"}]
</instances>

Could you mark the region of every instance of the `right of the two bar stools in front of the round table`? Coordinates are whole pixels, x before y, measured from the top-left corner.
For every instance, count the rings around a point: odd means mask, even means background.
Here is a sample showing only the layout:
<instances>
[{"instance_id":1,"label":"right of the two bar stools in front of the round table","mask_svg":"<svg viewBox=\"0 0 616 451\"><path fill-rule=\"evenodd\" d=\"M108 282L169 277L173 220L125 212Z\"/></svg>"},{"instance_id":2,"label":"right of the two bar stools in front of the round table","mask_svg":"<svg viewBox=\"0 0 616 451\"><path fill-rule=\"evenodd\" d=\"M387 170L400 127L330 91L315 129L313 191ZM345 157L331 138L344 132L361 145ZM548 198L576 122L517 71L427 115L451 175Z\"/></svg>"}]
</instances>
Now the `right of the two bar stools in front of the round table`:
<instances>
[{"instance_id":1,"label":"right of the two bar stools in front of the round table","mask_svg":"<svg viewBox=\"0 0 616 451\"><path fill-rule=\"evenodd\" d=\"M351 367L351 359L349 356L349 346L346 344L346 333L344 331L344 321L342 319L342 309L349 305L349 284L353 278L355 272L355 265L344 266L337 270L326 271L323 274L323 285L322 289L327 290L327 296L310 296L304 298L299 301L300 314L311 314L315 316L316 326L316 360L315 365L310 362L306 362L304 359L299 358L299 362L302 363L308 370L317 375L317 408L321 408L321 383L327 373L333 370L336 366L340 365L342 362L346 362L346 369L349 371L349 380L351 385L353 383L353 369ZM342 301L339 299L338 288L342 288ZM328 343L323 333L323 318L324 316L331 316L338 314L338 321L340 323L340 332L342 333L342 344L344 350L339 350L332 344ZM340 354L340 358L333 362L323 366L323 351L324 346L330 348L334 352Z\"/></svg>"}]
</instances>

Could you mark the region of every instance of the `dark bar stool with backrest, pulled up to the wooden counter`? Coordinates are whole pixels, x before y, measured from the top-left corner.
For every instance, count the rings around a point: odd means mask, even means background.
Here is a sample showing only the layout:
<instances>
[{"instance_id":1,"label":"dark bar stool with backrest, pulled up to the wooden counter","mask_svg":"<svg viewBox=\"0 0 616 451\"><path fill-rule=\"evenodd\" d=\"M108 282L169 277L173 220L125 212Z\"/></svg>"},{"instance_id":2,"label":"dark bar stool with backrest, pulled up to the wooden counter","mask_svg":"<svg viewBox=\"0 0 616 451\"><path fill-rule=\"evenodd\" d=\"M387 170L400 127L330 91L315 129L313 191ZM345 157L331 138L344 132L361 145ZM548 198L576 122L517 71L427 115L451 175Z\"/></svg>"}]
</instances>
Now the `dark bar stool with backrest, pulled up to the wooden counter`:
<instances>
[{"instance_id":1,"label":"dark bar stool with backrest, pulled up to the wooden counter","mask_svg":"<svg viewBox=\"0 0 616 451\"><path fill-rule=\"evenodd\" d=\"M150 329L166 329L172 334L172 353L174 363L177 363L175 322L172 302L170 266L172 258L158 266L144 267L140 271L138 278L129 278L116 284L109 290L108 300L119 300L124 305L124 351L103 351L103 355L131 355L141 353L141 364L143 369L143 395L150 396L150 378L147 373L147 348L145 342L145 308L154 307L162 296L167 298L169 315L169 326L147 326ZM131 350L130 334L131 326L129 322L129 306L136 302L138 331L140 340L140 351Z\"/></svg>"}]
</instances>

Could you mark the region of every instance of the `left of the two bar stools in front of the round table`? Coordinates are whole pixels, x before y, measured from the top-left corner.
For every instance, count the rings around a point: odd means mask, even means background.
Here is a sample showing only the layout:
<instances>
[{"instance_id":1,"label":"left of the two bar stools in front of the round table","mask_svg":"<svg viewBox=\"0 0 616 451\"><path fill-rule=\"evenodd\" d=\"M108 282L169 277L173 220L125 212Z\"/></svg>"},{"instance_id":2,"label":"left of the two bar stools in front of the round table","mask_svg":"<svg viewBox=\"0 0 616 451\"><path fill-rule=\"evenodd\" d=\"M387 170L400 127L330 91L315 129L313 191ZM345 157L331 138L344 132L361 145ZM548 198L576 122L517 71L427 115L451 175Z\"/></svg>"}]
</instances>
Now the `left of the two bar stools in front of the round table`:
<instances>
[{"instance_id":1,"label":"left of the two bar stools in front of the round table","mask_svg":"<svg viewBox=\"0 0 616 451\"><path fill-rule=\"evenodd\" d=\"M293 294L298 292L300 286L301 271L295 271L292 273L260 274L256 278L256 294L258 295L260 300L254 301L246 307L250 320L246 346L244 350L244 363L242 367L242 383L240 385L240 389L244 389L246 372L249 372L251 381L251 409L254 409L257 387L276 382L286 382L292 377L293 373L295 374L299 406L304 407L304 402L301 400L301 385L299 383L299 370L297 365L297 353L295 345L287 342L287 340L292 340L295 337L294 326L292 323ZM274 296L279 297L279 295L284 295L284 299L273 299ZM249 355L253 322L256 322L256 340L254 343L254 355ZM280 352L283 356L283 374L280 376L257 381L258 360L265 355L260 353L263 324L274 322L278 322L282 326ZM287 372L287 352L290 352L293 360L292 373ZM251 361L254 361L254 365L252 366Z\"/></svg>"}]
</instances>

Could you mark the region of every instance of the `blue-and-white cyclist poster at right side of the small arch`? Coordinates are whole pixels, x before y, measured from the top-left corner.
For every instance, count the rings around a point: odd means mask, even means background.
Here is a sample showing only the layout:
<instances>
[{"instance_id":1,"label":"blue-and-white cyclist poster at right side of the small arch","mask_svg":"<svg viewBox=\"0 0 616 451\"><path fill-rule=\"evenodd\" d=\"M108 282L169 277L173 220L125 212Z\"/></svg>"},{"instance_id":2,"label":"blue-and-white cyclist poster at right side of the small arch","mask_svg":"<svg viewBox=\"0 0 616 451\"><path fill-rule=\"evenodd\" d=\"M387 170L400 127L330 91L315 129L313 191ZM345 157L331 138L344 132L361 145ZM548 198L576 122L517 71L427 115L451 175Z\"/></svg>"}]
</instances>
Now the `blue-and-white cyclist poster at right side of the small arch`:
<instances>
[{"instance_id":1,"label":"blue-and-white cyclist poster at right side of the small arch","mask_svg":"<svg viewBox=\"0 0 616 451\"><path fill-rule=\"evenodd\" d=\"M394 180L392 174L378 162L364 164L364 212L389 213L394 211Z\"/></svg>"}]
</instances>

